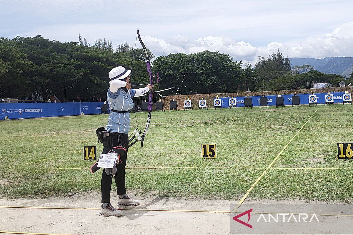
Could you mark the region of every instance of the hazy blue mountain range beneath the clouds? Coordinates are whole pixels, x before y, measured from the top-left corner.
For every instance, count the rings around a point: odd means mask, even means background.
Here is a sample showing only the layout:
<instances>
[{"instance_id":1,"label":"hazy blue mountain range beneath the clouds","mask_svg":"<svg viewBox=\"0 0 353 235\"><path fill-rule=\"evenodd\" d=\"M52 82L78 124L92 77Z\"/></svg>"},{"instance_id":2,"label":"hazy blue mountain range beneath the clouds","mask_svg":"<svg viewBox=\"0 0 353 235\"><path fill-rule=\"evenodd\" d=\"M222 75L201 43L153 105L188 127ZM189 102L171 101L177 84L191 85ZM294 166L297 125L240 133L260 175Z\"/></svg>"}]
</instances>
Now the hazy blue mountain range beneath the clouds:
<instances>
[{"instance_id":1,"label":"hazy blue mountain range beneath the clouds","mask_svg":"<svg viewBox=\"0 0 353 235\"><path fill-rule=\"evenodd\" d=\"M347 78L353 71L353 57L290 58L292 66L310 64L322 73L340 74Z\"/></svg>"}]
</instances>

